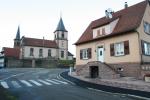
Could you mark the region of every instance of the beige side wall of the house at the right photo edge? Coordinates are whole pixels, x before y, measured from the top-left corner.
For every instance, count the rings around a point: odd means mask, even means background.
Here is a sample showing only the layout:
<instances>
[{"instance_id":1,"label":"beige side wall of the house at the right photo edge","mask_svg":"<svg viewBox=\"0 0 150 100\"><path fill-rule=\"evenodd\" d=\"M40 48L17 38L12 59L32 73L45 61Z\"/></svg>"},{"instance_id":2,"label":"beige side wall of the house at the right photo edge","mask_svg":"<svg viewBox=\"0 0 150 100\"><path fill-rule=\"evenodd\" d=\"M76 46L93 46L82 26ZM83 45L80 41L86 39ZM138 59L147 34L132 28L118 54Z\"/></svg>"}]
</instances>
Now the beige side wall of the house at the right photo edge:
<instances>
[{"instance_id":1,"label":"beige side wall of the house at the right photo edge","mask_svg":"<svg viewBox=\"0 0 150 100\"><path fill-rule=\"evenodd\" d=\"M147 41L150 43L150 35L146 34L144 32L144 27L143 27L143 21L146 21L150 24L150 6L147 5L146 7L146 11L145 11L145 14L143 16L143 19L142 19L142 22L141 22L141 25L140 27L137 29L137 31L139 32L139 36L140 36L140 39L141 40L144 40L144 41ZM140 47L141 48L141 47ZM141 51L141 54L142 54L142 51ZM142 59L144 62L150 62L150 56L142 56Z\"/></svg>"}]
</instances>

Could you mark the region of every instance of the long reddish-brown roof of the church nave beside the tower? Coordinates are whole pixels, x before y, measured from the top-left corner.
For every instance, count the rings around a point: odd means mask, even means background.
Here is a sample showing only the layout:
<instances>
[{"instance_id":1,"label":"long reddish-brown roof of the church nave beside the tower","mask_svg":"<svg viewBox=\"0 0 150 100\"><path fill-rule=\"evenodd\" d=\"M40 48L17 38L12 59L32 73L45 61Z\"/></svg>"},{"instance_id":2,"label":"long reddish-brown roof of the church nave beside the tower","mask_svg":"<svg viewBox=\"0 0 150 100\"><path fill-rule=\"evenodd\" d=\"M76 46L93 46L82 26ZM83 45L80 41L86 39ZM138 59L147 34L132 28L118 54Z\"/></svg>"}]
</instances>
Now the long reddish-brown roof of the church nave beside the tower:
<instances>
[{"instance_id":1,"label":"long reddish-brown roof of the church nave beside the tower","mask_svg":"<svg viewBox=\"0 0 150 100\"><path fill-rule=\"evenodd\" d=\"M52 40L22 37L22 42L24 46L58 48L56 42Z\"/></svg>"}]
</instances>

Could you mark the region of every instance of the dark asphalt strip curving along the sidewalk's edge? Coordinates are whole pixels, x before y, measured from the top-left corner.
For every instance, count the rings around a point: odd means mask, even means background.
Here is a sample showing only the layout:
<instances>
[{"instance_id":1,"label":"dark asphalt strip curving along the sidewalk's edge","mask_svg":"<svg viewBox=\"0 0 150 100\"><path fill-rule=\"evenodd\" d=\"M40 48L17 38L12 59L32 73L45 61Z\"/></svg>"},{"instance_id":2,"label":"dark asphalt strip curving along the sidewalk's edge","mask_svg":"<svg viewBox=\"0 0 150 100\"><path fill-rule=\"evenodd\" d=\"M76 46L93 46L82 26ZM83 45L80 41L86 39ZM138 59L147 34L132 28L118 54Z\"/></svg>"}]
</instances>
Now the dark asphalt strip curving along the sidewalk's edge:
<instances>
[{"instance_id":1,"label":"dark asphalt strip curving along the sidewalk's edge","mask_svg":"<svg viewBox=\"0 0 150 100\"><path fill-rule=\"evenodd\" d=\"M86 82L86 81L69 76L68 71L61 73L60 76L63 77L64 79L69 80L69 81L75 83L76 85L84 87L84 88L92 88L92 89L105 91L105 92L109 92L109 93L125 94L125 95L131 96L131 97L136 97L136 98L140 98L140 99L144 99L144 100L150 100L150 92L131 90L131 89L112 87L112 86L106 86L106 85L100 85L100 84Z\"/></svg>"}]
</instances>

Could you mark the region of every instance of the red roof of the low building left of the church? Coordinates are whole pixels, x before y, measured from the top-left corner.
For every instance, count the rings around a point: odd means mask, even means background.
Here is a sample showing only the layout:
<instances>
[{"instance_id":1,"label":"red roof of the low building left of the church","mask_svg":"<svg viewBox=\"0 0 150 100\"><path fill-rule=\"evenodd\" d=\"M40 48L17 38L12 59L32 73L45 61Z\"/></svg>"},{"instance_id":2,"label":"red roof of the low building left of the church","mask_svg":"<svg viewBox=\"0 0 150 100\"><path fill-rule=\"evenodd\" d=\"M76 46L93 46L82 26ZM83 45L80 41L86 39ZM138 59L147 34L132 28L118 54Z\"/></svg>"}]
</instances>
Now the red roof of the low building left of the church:
<instances>
[{"instance_id":1,"label":"red roof of the low building left of the church","mask_svg":"<svg viewBox=\"0 0 150 100\"><path fill-rule=\"evenodd\" d=\"M19 48L8 48L8 47L4 47L4 48L3 48L3 53L4 53L5 57L19 58L20 49L19 49Z\"/></svg>"}]
</instances>

